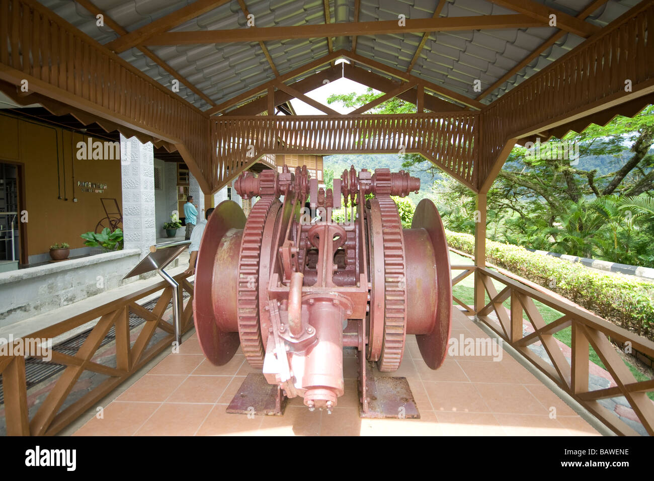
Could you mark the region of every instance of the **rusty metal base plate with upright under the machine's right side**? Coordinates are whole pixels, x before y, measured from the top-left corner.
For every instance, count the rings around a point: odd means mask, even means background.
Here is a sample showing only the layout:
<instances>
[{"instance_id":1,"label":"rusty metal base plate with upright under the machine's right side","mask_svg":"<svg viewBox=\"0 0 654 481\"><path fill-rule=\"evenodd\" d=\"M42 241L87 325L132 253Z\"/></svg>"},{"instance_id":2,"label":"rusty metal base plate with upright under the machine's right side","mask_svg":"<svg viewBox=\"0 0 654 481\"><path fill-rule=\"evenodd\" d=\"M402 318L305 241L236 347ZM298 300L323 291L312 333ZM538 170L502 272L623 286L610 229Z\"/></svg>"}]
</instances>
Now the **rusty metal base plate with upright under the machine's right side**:
<instances>
[{"instance_id":1,"label":"rusty metal base plate with upright under the machine's right side","mask_svg":"<svg viewBox=\"0 0 654 481\"><path fill-rule=\"evenodd\" d=\"M372 371L374 363L361 359L363 357L361 353L358 355L360 361L359 417L420 419L418 406L413 399L407 378L382 376L375 378ZM364 365L366 371L362 373ZM364 375L362 376L362 374ZM363 383L361 378L363 378ZM363 385L365 385L364 389L362 389Z\"/></svg>"}]
</instances>

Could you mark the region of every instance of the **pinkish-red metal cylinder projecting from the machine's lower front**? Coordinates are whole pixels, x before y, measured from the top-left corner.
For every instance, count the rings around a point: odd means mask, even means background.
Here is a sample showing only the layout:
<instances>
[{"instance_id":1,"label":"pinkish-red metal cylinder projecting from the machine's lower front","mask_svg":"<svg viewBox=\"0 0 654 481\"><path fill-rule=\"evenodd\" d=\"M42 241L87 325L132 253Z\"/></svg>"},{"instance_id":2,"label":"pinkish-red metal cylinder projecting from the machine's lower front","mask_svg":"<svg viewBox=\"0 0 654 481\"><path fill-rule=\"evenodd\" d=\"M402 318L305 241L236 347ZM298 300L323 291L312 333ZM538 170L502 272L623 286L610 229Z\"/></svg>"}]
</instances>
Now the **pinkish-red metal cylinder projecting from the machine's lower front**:
<instances>
[{"instance_id":1,"label":"pinkish-red metal cylinder projecting from the machine's lower front","mask_svg":"<svg viewBox=\"0 0 654 481\"><path fill-rule=\"evenodd\" d=\"M343 395L343 313L332 299L316 299L309 306L309 324L317 344L306 355L302 387L304 404L332 408Z\"/></svg>"}]
</instances>

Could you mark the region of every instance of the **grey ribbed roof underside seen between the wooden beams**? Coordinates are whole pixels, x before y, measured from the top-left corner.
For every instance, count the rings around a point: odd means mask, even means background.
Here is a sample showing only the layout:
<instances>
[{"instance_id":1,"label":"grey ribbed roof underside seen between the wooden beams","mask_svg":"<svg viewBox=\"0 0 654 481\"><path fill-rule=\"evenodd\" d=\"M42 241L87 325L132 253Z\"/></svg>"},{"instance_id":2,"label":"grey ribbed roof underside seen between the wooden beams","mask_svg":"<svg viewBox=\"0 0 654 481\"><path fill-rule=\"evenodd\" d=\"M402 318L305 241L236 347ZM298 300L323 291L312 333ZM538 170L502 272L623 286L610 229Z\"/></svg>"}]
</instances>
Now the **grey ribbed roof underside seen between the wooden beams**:
<instances>
[{"instance_id":1,"label":"grey ribbed roof underside seen between the wooden beams","mask_svg":"<svg viewBox=\"0 0 654 481\"><path fill-rule=\"evenodd\" d=\"M118 37L107 26L97 27L95 17L73 0L40 1L101 44ZM93 1L127 31L143 27L191 3L179 0ZM589 0L536 1L570 15L577 15L589 3ZM637 3L640 1L608 0L593 12L587 21L597 26L605 26ZM258 27L319 26L324 23L322 0L246 0L246 4ZM359 21L397 20L400 14L404 14L406 18L431 18L437 5L438 0L361 0ZM487 0L447 0L440 16L447 18L513 13L515 12ZM330 16L332 22L352 22L354 1L330 0ZM239 3L232 0L175 27L173 31L233 29L245 27L246 24L247 19ZM550 27L530 27L432 33L411 73L466 97L476 98L479 92L475 92L473 88L474 80L481 80L481 90L486 90L557 31ZM356 52L405 71L421 38L421 33L361 36L357 37ZM332 40L335 49L351 48L351 37ZM583 39L572 33L564 35L555 45L496 88L483 102L489 103L516 84L538 73L582 41ZM266 47L275 67L282 74L328 53L327 40L320 37L267 41ZM256 42L160 46L152 47L151 50L215 103L222 103L274 78L266 56ZM171 86L171 75L146 58L137 48L123 52L121 56L152 79L166 87ZM200 109L210 106L182 85L179 95Z\"/></svg>"}]
</instances>

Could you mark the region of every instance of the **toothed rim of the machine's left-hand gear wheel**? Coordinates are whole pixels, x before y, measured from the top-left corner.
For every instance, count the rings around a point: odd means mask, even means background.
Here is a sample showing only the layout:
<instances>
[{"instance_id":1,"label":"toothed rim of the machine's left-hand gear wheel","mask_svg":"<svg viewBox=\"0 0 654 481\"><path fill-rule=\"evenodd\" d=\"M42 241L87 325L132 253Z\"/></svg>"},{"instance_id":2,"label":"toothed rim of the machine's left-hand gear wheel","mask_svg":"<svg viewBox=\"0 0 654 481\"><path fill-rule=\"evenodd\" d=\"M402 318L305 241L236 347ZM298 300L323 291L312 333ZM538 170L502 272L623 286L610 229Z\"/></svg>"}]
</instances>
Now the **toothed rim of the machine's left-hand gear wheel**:
<instances>
[{"instance_id":1,"label":"toothed rim of the machine's left-hand gear wheel","mask_svg":"<svg viewBox=\"0 0 654 481\"><path fill-rule=\"evenodd\" d=\"M259 264L266 217L275 196L262 197L247 217L239 253L237 313L241 348L250 366L264 366L264 346L259 321Z\"/></svg>"}]
</instances>

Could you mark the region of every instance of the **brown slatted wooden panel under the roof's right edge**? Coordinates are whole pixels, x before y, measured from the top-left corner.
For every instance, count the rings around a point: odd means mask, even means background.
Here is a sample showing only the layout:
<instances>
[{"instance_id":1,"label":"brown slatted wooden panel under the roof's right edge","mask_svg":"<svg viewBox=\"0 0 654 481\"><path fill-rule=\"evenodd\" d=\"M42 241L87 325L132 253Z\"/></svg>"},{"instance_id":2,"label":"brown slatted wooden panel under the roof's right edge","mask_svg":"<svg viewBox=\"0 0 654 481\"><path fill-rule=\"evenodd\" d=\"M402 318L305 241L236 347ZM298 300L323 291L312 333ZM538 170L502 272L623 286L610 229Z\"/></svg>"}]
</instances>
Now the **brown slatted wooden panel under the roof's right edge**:
<instances>
[{"instance_id":1,"label":"brown slatted wooden panel under the roof's right edge","mask_svg":"<svg viewBox=\"0 0 654 481\"><path fill-rule=\"evenodd\" d=\"M653 28L654 3L644 1L490 103L481 113L480 178L509 139L654 91Z\"/></svg>"}]
</instances>

